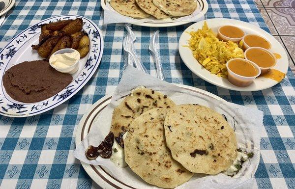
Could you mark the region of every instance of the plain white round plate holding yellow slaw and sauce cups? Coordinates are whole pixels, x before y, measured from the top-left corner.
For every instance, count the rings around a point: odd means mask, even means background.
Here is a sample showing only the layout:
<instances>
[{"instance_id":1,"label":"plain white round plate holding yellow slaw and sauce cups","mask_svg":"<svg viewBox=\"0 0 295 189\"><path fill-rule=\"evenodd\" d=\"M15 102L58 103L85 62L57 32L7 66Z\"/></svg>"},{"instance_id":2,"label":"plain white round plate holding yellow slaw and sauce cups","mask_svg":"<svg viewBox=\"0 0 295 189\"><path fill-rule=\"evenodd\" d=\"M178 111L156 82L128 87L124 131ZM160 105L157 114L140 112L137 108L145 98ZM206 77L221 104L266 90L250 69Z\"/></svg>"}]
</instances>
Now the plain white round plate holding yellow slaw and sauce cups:
<instances>
[{"instance_id":1,"label":"plain white round plate holding yellow slaw and sauce cups","mask_svg":"<svg viewBox=\"0 0 295 189\"><path fill-rule=\"evenodd\" d=\"M202 26L204 25L204 22L205 21L200 21L186 28L181 34L179 43L178 43L178 50L179 50L181 59L194 74L196 74L203 80L208 81L209 83L215 84L223 88L237 90L237 91L263 90L263 89L272 87L273 85L278 83L277 81L274 81L274 80L259 77L255 79L255 81L247 87L238 87L230 83L225 78L219 78L214 74L210 74L210 72L206 70L198 62L198 60L194 58L192 51L188 47L183 47L188 45L188 40L190 39L190 34L187 32L196 31L199 28L202 28ZM289 67L289 63L288 63L289 61L288 61L288 56L286 51L284 50L282 45L271 34L267 33L265 30L261 29L260 27L256 27L252 24L242 22L239 20L233 20L233 19L214 18L214 19L208 19L206 20L206 22L208 24L208 27L212 28L212 30L216 33L217 33L218 27L220 26L234 25L244 30L245 33L253 33L253 34L258 34L265 37L271 43L270 51L273 53L278 53L282 56L280 59L277 60L277 63L274 66L274 69L277 69L285 74L287 73L288 67Z\"/></svg>"}]
</instances>

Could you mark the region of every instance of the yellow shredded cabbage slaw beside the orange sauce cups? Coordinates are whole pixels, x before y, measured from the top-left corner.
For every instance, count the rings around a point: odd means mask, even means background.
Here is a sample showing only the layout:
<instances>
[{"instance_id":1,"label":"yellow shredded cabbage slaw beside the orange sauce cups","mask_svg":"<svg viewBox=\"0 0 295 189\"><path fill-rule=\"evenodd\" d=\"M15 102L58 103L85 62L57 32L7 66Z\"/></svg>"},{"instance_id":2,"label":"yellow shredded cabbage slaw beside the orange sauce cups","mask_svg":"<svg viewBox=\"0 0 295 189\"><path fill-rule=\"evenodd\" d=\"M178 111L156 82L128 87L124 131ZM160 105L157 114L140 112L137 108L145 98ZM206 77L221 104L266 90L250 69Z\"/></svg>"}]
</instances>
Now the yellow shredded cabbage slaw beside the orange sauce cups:
<instances>
[{"instance_id":1,"label":"yellow shredded cabbage slaw beside the orange sauce cups","mask_svg":"<svg viewBox=\"0 0 295 189\"><path fill-rule=\"evenodd\" d=\"M189 32L189 48L194 57L211 74L227 78L226 62L233 58L244 58L244 52L232 41L224 42L204 23L202 29Z\"/></svg>"}]
</instances>

